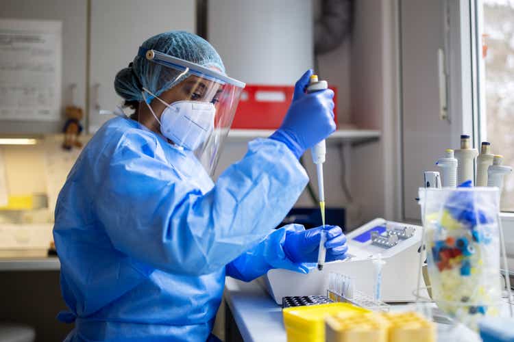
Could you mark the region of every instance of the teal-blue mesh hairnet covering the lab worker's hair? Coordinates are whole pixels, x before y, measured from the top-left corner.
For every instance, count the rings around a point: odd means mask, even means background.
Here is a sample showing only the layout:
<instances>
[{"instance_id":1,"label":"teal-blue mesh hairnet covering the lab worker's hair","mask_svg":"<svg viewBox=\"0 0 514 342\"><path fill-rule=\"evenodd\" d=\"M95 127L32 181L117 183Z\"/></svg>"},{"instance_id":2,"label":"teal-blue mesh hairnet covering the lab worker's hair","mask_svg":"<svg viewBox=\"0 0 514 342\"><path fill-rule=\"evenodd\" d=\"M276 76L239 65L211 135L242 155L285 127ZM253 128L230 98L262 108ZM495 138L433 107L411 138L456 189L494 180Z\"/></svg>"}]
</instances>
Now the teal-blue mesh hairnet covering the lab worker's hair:
<instances>
[{"instance_id":1,"label":"teal-blue mesh hairnet covering the lab worker's hair","mask_svg":"<svg viewBox=\"0 0 514 342\"><path fill-rule=\"evenodd\" d=\"M141 47L160 51L206 68L216 68L225 74L225 66L215 48L204 38L186 31L158 34L145 40ZM114 90L126 101L143 101L143 87L159 96L191 74L187 73L177 78L178 75L179 70L161 66L136 55L132 66L123 68L114 78Z\"/></svg>"}]
</instances>

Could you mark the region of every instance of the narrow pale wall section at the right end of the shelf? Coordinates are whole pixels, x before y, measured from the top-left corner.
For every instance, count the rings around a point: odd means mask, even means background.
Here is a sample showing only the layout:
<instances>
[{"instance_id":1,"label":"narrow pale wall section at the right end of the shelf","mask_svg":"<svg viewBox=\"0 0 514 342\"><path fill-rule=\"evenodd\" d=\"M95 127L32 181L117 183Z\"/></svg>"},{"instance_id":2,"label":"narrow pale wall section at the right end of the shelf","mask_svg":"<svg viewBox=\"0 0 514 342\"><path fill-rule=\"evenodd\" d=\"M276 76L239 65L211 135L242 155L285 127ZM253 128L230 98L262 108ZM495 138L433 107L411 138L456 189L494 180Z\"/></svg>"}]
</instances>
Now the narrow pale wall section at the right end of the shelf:
<instances>
[{"instance_id":1,"label":"narrow pale wall section at the right end of the shelf","mask_svg":"<svg viewBox=\"0 0 514 342\"><path fill-rule=\"evenodd\" d=\"M352 40L352 121L380 129L379 142L352 149L352 193L363 219L400 220L400 110L396 0L359 0Z\"/></svg>"}]
</instances>

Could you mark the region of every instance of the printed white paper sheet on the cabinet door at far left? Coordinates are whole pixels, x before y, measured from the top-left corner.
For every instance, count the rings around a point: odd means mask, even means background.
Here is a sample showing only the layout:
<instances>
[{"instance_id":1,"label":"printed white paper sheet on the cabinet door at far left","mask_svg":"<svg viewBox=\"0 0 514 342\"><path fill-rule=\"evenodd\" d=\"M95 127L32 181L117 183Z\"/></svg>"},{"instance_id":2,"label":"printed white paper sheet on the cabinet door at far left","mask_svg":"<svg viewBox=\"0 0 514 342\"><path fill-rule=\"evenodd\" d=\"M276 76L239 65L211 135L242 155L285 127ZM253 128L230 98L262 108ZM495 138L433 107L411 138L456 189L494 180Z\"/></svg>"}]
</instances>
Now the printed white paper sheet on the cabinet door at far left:
<instances>
[{"instance_id":1,"label":"printed white paper sheet on the cabinet door at far left","mask_svg":"<svg viewBox=\"0 0 514 342\"><path fill-rule=\"evenodd\" d=\"M0 120L60 119L62 22L0 19Z\"/></svg>"}]
</instances>

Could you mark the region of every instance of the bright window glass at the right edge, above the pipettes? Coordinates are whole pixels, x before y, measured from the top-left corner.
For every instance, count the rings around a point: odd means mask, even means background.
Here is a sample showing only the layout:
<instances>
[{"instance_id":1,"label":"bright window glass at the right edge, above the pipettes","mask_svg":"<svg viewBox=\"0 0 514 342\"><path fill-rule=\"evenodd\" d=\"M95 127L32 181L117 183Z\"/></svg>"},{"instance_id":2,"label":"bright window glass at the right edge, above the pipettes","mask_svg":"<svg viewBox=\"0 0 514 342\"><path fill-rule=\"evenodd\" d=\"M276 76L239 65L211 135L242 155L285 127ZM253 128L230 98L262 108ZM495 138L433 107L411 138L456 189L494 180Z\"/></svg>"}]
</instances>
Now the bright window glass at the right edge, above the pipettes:
<instances>
[{"instance_id":1,"label":"bright window glass at the right edge, above the pipettes","mask_svg":"<svg viewBox=\"0 0 514 342\"><path fill-rule=\"evenodd\" d=\"M480 139L491 142L493 153L514 166L514 0L476 2L480 98ZM514 211L514 174L504 179L502 211Z\"/></svg>"}]
</instances>

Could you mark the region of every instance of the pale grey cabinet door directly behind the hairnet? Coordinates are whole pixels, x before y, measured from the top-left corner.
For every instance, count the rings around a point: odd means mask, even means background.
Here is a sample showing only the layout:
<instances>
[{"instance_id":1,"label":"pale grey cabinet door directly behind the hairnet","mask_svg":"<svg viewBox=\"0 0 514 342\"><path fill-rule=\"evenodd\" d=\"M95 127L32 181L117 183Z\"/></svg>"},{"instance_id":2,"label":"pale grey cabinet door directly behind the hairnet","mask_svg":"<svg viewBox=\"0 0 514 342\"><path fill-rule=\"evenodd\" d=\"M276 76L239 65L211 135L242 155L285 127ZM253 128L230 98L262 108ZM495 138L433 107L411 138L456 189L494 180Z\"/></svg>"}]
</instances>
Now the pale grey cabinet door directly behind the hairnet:
<instances>
[{"instance_id":1,"label":"pale grey cabinet door directly behind the hairnet","mask_svg":"<svg viewBox=\"0 0 514 342\"><path fill-rule=\"evenodd\" d=\"M90 103L88 129L94 133L121 103L114 77L125 68L147 38L171 30L195 32L191 0L92 0L90 36Z\"/></svg>"}]
</instances>

